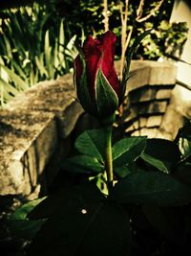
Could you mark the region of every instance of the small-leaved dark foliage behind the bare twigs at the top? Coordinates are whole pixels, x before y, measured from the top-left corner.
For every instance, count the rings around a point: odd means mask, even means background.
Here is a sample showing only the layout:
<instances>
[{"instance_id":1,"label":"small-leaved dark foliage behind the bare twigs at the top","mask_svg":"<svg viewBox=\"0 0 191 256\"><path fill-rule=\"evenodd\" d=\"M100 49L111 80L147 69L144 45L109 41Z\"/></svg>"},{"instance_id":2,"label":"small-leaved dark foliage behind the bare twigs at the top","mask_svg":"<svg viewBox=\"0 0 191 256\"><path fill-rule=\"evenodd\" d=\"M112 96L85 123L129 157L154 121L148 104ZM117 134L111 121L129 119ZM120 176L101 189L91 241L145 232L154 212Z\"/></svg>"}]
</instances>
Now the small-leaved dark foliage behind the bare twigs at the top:
<instances>
[{"instance_id":1,"label":"small-leaved dark foliage behind the bare twigs at the top","mask_svg":"<svg viewBox=\"0 0 191 256\"><path fill-rule=\"evenodd\" d=\"M125 2L124 0L122 1ZM69 27L77 35L81 34L83 28L85 35L96 35L103 32L103 5L97 0L91 1L54 1L55 8L60 16L66 17ZM134 27L131 44L134 38L154 28L153 33L147 36L140 44L134 58L158 59L159 57L180 57L182 46L186 40L187 27L185 23L169 23L173 0L164 1L158 12L143 22L137 22L137 11L139 1L129 1L128 30ZM142 16L148 15L159 1L145 1ZM120 34L121 21L117 1L108 1L110 12L110 30L117 35L117 57L120 56ZM79 12L80 11L80 12ZM73 20L71 20L73 17ZM86 21L89 22L86 22Z\"/></svg>"}]
</instances>

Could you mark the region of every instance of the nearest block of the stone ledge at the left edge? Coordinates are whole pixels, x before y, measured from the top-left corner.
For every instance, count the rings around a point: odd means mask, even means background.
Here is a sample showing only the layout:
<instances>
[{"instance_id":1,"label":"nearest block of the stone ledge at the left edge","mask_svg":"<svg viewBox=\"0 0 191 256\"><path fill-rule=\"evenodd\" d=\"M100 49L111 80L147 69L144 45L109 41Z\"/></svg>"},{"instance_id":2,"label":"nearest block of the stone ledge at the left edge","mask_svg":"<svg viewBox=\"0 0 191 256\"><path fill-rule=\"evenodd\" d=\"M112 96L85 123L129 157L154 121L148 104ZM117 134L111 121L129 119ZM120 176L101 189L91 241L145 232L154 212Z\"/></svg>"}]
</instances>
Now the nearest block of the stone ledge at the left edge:
<instances>
[{"instance_id":1,"label":"nearest block of the stone ledge at the left edge","mask_svg":"<svg viewBox=\"0 0 191 256\"><path fill-rule=\"evenodd\" d=\"M0 194L28 195L57 144L54 115L1 110L0 116Z\"/></svg>"}]
</instances>

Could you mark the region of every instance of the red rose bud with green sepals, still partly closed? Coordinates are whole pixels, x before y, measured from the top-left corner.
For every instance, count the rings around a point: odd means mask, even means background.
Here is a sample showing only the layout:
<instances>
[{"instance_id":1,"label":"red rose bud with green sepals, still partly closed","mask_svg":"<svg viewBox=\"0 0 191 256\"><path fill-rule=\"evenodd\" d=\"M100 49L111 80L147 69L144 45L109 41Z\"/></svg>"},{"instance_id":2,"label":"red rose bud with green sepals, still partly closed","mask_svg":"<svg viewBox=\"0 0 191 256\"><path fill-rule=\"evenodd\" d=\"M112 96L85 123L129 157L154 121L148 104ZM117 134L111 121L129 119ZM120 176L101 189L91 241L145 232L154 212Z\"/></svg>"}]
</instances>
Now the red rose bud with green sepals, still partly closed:
<instances>
[{"instance_id":1,"label":"red rose bud with green sepals, still partly closed","mask_svg":"<svg viewBox=\"0 0 191 256\"><path fill-rule=\"evenodd\" d=\"M111 31L96 39L90 35L74 60L77 98L87 112L99 117L112 115L123 98L114 66L116 41Z\"/></svg>"}]
</instances>

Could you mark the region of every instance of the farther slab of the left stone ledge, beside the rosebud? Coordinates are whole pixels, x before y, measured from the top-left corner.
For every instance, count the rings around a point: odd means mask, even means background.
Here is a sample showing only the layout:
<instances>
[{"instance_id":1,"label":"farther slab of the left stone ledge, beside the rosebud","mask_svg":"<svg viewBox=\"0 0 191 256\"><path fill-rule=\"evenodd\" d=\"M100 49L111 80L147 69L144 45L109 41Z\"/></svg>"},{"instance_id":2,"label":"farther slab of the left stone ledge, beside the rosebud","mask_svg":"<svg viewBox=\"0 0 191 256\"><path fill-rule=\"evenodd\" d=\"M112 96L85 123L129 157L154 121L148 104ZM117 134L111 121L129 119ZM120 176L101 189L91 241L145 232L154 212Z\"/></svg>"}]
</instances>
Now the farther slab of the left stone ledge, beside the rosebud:
<instances>
[{"instance_id":1,"label":"farther slab of the left stone ledge, beside the rosebud","mask_svg":"<svg viewBox=\"0 0 191 256\"><path fill-rule=\"evenodd\" d=\"M53 113L58 121L59 135L63 138L71 133L77 118L83 112L81 105L75 100L72 74L56 81L37 83L11 101L7 109Z\"/></svg>"}]
</instances>

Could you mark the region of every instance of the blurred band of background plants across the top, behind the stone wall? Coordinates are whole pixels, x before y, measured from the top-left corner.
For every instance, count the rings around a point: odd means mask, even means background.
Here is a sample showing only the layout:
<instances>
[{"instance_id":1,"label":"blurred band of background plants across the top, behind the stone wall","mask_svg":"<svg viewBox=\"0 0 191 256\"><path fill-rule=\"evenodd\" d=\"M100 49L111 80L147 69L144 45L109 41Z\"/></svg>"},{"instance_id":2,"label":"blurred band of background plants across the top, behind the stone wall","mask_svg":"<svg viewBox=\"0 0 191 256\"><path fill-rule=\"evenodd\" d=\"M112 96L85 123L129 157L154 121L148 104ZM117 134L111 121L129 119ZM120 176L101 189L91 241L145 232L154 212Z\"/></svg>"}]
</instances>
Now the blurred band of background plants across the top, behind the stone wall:
<instances>
[{"instance_id":1,"label":"blurred band of background plants across the top, behind the stone wall","mask_svg":"<svg viewBox=\"0 0 191 256\"><path fill-rule=\"evenodd\" d=\"M117 35L117 59L143 31L133 58L180 58L185 23L169 23L173 0L51 0L0 2L0 105L37 81L73 70L74 42L110 29ZM22 6L21 5L25 5ZM87 22L88 21L88 22ZM121 61L122 62L122 61Z\"/></svg>"}]
</instances>

